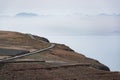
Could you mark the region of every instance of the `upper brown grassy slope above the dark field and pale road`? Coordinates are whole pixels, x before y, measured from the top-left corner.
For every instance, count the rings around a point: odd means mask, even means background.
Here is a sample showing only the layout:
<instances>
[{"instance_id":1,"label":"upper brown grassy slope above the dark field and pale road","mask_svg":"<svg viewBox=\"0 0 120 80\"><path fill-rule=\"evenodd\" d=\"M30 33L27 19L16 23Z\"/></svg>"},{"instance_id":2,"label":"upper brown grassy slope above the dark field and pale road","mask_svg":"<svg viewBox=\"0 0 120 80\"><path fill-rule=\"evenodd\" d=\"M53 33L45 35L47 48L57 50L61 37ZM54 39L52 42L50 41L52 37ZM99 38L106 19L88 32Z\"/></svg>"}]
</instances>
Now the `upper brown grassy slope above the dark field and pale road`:
<instances>
[{"instance_id":1,"label":"upper brown grassy slope above the dark field and pale road","mask_svg":"<svg viewBox=\"0 0 120 80\"><path fill-rule=\"evenodd\" d=\"M50 44L43 43L42 40L33 40L27 34L0 31L0 45L12 49L41 49L48 47Z\"/></svg>"}]
</instances>

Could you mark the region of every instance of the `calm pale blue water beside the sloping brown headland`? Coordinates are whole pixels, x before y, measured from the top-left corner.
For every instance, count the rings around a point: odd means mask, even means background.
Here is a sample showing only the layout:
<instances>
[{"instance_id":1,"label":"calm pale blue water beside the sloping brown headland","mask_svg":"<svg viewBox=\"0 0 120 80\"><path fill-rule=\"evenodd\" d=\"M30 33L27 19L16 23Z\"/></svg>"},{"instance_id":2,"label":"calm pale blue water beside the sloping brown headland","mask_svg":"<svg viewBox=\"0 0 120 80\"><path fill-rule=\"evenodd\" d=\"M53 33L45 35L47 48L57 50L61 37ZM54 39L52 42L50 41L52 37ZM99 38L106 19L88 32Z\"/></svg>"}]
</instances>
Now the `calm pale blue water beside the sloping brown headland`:
<instances>
[{"instance_id":1,"label":"calm pale blue water beside the sloping brown headland","mask_svg":"<svg viewBox=\"0 0 120 80\"><path fill-rule=\"evenodd\" d=\"M97 59L112 71L120 71L120 36L47 36L51 42L68 45L78 53Z\"/></svg>"}]
</instances>

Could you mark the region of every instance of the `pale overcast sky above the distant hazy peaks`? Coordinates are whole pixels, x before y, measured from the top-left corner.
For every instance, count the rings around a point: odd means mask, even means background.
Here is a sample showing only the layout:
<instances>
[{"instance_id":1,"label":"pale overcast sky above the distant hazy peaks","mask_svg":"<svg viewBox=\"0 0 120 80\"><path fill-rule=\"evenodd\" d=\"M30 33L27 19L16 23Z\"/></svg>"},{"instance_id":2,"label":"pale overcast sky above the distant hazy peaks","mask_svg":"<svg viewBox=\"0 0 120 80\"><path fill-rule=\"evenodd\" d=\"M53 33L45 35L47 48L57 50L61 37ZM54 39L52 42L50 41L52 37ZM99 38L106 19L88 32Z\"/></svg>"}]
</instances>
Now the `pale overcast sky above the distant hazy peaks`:
<instances>
[{"instance_id":1,"label":"pale overcast sky above the distant hazy peaks","mask_svg":"<svg viewBox=\"0 0 120 80\"><path fill-rule=\"evenodd\" d=\"M0 14L120 13L120 0L0 0Z\"/></svg>"}]
</instances>

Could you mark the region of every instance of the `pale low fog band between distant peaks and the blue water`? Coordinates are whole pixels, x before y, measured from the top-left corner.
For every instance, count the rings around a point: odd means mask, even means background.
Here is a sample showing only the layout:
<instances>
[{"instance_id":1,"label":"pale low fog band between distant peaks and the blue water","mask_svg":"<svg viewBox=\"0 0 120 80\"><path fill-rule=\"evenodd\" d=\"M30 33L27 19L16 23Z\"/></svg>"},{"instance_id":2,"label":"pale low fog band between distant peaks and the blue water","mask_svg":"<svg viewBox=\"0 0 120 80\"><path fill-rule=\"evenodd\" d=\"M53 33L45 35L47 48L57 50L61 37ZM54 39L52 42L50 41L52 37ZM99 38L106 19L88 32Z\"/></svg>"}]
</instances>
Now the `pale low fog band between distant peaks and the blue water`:
<instances>
[{"instance_id":1,"label":"pale low fog band between distant peaks and the blue water","mask_svg":"<svg viewBox=\"0 0 120 80\"><path fill-rule=\"evenodd\" d=\"M33 17L34 15L35 17ZM24 32L38 31L49 35L120 34L120 16L36 15L38 14L29 13L21 18L2 17L0 18L0 28Z\"/></svg>"}]
</instances>

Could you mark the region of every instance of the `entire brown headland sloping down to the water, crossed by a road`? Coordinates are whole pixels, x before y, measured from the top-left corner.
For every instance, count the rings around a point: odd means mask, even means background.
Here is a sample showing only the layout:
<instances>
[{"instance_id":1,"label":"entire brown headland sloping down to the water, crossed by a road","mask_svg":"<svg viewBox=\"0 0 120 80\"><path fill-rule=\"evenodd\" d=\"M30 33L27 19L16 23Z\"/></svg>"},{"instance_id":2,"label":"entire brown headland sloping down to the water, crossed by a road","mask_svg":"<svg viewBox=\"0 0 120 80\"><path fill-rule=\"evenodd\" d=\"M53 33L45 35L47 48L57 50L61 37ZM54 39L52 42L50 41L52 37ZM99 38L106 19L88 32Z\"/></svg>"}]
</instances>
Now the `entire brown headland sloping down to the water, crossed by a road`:
<instances>
[{"instance_id":1,"label":"entire brown headland sloping down to the water, crossed by a road","mask_svg":"<svg viewBox=\"0 0 120 80\"><path fill-rule=\"evenodd\" d=\"M44 37L0 31L0 80L120 80L120 72Z\"/></svg>"}]
</instances>

